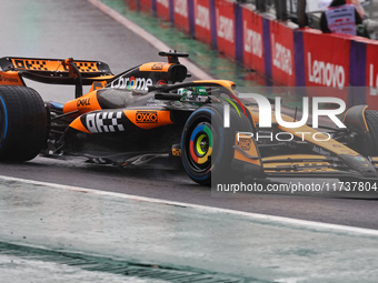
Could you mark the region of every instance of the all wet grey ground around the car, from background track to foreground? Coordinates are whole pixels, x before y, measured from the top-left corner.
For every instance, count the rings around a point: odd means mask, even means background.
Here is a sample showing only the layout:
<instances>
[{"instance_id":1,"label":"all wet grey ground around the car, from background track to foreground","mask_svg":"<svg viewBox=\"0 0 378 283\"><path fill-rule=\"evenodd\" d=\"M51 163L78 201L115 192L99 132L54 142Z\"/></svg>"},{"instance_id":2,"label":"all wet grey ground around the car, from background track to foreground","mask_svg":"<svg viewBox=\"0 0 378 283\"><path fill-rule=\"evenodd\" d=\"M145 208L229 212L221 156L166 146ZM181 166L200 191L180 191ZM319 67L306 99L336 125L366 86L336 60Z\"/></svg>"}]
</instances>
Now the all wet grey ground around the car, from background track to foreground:
<instances>
[{"instance_id":1,"label":"all wet grey ground around the car, from background track to foreground","mask_svg":"<svg viewBox=\"0 0 378 283\"><path fill-rule=\"evenodd\" d=\"M107 62L115 73L141 62L161 60L158 57L160 50L156 50L84 0L3 1L0 18L7 23L1 30L0 57L94 59ZM73 87L42 85L30 81L27 83L36 88L44 100L64 102L74 97ZM146 263L146 261L140 262L145 259L143 256L150 256L147 260L152 261L153 255L157 261L159 260L158 262L173 262L183 266L191 265L218 272L221 269L232 274L252 274L253 277L270 280L251 282L348 282L348 280L357 282L356 279L359 276L364 279L364 282L376 282L377 267L372 264L377 254L375 235L366 236L357 233L349 236L344 235L339 230L329 232L328 229L326 229L327 232L319 233L312 226L302 229L301 225L299 225L300 229L292 229L287 224L277 225L275 221L269 220L269 216L265 222L260 221L258 225L250 226L251 221L245 219L248 219L248 215L225 216L225 214L213 212L210 213L216 216L213 221L212 218L208 218L209 214L206 214L205 209L189 210L185 209L185 205L159 205L137 200L137 196L147 196L228 209L236 213L252 212L377 230L378 193L376 192L253 192L232 195L237 198L220 198L211 193L209 188L193 183L182 171L120 169L84 163L84 160L80 158L57 160L38 156L21 164L0 163L0 175L79 188L76 192L64 192L64 190L54 190L48 184L29 186L18 183L21 181L1 181L6 189L2 186L0 205L2 218L0 281L2 279L4 282L23 283L30 282L31 279L34 280L33 282L49 282L54 279L54 282L80 283L83 280L87 282L145 282L136 277L128 277L129 281L126 281L125 274L129 274L135 267L146 269L143 271L146 273L151 270L173 272L171 266L163 270L156 264L140 265L140 263ZM290 179L289 181L298 182L299 180ZM300 180L304 184L335 181L337 180ZM265 185L285 181L268 180ZM112 199L113 196L109 194L96 199L98 196L96 193L83 193L84 189L80 191L81 188L137 196L135 196L136 200L132 200L133 196L131 200L126 200L126 198ZM81 202L81 200L89 200L96 209L106 210L101 213L94 210L96 213L91 213L91 209L88 209L90 206L86 206L88 202ZM107 205L101 206L100 202ZM130 209L128 203L133 203L136 206L132 208L138 209ZM165 208L161 209L161 206ZM115 208L118 208L119 219L112 218L111 213L115 212L112 210ZM139 216L143 216L142 212L146 210L151 211L152 214L146 216L146 222L143 222ZM167 223L156 221L156 216L165 218L162 213L158 213L163 210L167 210L170 215L170 221ZM182 216L182 212L188 214ZM100 218L101 221L99 221ZM136 221L130 229L127 225L119 225L119 223L128 223L130 219ZM191 219L192 222L182 221L183 219ZM103 226L98 226L99 222ZM74 231L81 230L80 233L72 232L73 228L69 223L76 223ZM182 225L182 229L178 229L178 225ZM109 229L110 226L113 230ZM195 226L198 229L197 232L195 232ZM215 233L217 229L221 229L222 233ZM96 235L97 242L91 242L93 237L90 235ZM129 235L131 235L130 239L127 239ZM233 241L233 235L237 235L239 241ZM122 241L117 242L119 236ZM213 241L216 237L220 239L219 242ZM256 242L251 241L253 237ZM176 240L181 241L180 245ZM20 245L9 244L14 241ZM161 245L156 244L157 241L160 241ZM193 245L189 244L190 241ZM255 245L251 245L251 242ZM32 247L33 245L50 250ZM112 251L109 251L110 245L113 246ZM162 246L169 249L162 249ZM82 252L82 254L71 254L63 247ZM131 266L130 261L122 262L122 260L130 260L130 251L135 252L131 255L139 253L139 257L132 259L139 260L139 262L133 262L138 263L138 266ZM111 256L107 259L100 256L96 260L88 255L93 253L109 255L111 252L113 256L120 256L120 262ZM161 254L169 256L163 259ZM195 260L177 261L187 255ZM41 257L44 261L39 261ZM79 265L80 262L91 265L93 259L98 261L94 263L106 272L120 269L118 264L121 264L122 276L87 273L86 269L80 267L82 266ZM242 264L239 265L238 260ZM273 280L278 279L273 274L280 272L285 272L285 280ZM350 272L352 272L351 275L349 275ZM339 277L339 274L342 276ZM181 274L177 273L175 276L181 276ZM290 281L290 276L295 277ZM336 281L338 277L339 280Z\"/></svg>"}]
</instances>

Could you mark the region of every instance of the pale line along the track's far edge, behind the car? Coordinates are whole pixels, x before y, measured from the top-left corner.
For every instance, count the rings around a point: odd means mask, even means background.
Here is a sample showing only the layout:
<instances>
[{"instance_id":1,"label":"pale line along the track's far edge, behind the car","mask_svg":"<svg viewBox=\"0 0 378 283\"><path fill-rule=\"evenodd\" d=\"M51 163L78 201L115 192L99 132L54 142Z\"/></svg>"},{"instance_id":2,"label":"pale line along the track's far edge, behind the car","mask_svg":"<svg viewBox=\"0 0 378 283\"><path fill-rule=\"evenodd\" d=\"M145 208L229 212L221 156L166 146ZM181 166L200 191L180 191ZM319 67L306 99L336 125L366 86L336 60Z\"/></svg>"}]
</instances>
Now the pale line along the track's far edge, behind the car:
<instances>
[{"instance_id":1,"label":"pale line along the track's far edge, behind the car","mask_svg":"<svg viewBox=\"0 0 378 283\"><path fill-rule=\"evenodd\" d=\"M111 9L110 7L106 6L99 0L88 0L91 4L93 4L96 8L108 14L113 20L118 21L119 23L123 24L126 28L128 28L130 31L136 33L137 36L141 37L143 40L146 40L148 43L150 43L152 47L155 47L159 51L168 51L172 50L169 48L166 43L160 41L158 38L153 37L151 33L147 32L145 29L140 28L132 21L125 18L122 14L117 12L116 10ZM185 64L189 72L195 74L201 80L213 80L211 75L199 69L196 64L193 64L191 61L189 61L186 58L180 59L181 63Z\"/></svg>"}]
</instances>

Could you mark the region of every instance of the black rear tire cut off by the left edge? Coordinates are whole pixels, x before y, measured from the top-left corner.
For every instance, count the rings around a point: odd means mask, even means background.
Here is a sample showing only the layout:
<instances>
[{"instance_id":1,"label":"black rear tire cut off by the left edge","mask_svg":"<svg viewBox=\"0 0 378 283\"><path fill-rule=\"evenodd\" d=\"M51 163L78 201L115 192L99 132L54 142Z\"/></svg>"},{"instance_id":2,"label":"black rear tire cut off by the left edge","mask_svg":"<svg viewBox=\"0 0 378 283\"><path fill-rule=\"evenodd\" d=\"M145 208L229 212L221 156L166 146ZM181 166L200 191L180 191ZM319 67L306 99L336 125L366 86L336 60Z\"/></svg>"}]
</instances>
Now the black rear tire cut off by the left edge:
<instances>
[{"instance_id":1,"label":"black rear tire cut off by the left edge","mask_svg":"<svg viewBox=\"0 0 378 283\"><path fill-rule=\"evenodd\" d=\"M22 162L46 145L48 115L38 92L27 87L0 87L0 161Z\"/></svg>"}]
</instances>

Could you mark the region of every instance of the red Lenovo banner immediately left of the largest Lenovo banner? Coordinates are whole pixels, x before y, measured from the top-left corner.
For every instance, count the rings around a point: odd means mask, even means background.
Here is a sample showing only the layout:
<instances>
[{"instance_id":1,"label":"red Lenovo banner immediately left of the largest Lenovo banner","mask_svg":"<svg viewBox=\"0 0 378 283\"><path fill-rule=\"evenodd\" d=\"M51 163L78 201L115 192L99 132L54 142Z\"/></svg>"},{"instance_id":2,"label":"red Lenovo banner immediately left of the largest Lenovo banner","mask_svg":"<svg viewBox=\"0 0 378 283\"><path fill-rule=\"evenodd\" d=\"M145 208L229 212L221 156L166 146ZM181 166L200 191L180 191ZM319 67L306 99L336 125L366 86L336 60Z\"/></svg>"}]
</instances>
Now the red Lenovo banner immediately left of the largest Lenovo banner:
<instances>
[{"instance_id":1,"label":"red Lenovo banner immediately left of the largest Lenovo banner","mask_svg":"<svg viewBox=\"0 0 378 283\"><path fill-rule=\"evenodd\" d=\"M277 21L270 21L270 44L273 81L284 85L296 85L294 30Z\"/></svg>"}]
</instances>

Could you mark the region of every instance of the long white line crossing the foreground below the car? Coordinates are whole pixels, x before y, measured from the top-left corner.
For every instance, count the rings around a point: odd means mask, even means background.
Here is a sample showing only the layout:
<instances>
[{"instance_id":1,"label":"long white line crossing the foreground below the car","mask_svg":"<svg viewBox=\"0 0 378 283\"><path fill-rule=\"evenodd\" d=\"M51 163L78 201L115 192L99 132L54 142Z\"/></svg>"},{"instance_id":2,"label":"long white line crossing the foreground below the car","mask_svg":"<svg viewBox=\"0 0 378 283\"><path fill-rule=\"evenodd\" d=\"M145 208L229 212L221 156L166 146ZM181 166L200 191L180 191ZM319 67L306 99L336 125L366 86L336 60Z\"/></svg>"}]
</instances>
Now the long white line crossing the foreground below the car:
<instances>
[{"instance_id":1,"label":"long white line crossing the foreground below the car","mask_svg":"<svg viewBox=\"0 0 378 283\"><path fill-rule=\"evenodd\" d=\"M205 205L199 205L199 204L167 201L167 200L152 199L152 198L146 198L146 196L139 196L139 195L132 195L132 194L106 192L106 191L99 191L99 190L93 190L93 189L84 189L84 188L79 188L79 186L47 183L47 182L32 181L32 180L4 176L4 175L0 175L0 180L8 181L8 182L9 181L21 182L21 183L32 184L32 185L42 185L42 186L74 191L74 192L92 193L96 195L108 195L108 196L121 198L121 199L133 200L133 201L139 201L139 202L142 201L142 202L158 203L158 204L165 204L165 205L176 205L176 206L182 206L182 208L188 208L188 209L195 209L195 210L199 210L199 211L207 212L207 213L227 213L227 214L249 218L255 221L268 221L268 222L280 223L285 225L291 224L291 225L306 226L310 229L322 229L322 230L332 231L332 232L346 232L346 233L357 233L357 234L365 234L365 235L370 235L370 236L378 236L378 230L371 230L371 229L346 226L346 225L338 225L338 224L328 224L328 223L307 221L307 220L297 220L297 219L272 216L272 215L242 212L242 211L233 211L233 210L227 210L227 209L205 206Z\"/></svg>"}]
</instances>

